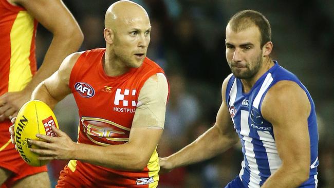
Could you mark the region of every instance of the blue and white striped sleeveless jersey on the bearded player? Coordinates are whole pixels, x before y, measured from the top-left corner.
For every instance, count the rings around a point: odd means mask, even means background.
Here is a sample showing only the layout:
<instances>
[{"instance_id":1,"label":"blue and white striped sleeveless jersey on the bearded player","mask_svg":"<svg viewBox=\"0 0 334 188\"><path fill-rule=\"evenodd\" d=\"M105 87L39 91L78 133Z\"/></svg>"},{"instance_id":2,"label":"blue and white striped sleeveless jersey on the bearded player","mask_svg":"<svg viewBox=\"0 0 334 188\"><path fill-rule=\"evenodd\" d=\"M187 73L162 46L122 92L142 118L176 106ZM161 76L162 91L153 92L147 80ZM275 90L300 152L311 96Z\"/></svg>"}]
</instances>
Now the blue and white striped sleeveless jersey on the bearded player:
<instances>
[{"instance_id":1,"label":"blue and white striped sleeveless jersey on the bearded player","mask_svg":"<svg viewBox=\"0 0 334 188\"><path fill-rule=\"evenodd\" d=\"M310 176L300 187L317 187L318 125L313 100L294 74L276 61L274 63L275 65L256 81L249 93L243 93L242 82L234 76L227 85L226 102L244 155L239 177L245 187L260 187L281 166L273 127L263 118L261 105L270 87L279 81L288 80L297 83L306 92L311 104L311 112L307 119L311 147Z\"/></svg>"}]
</instances>

